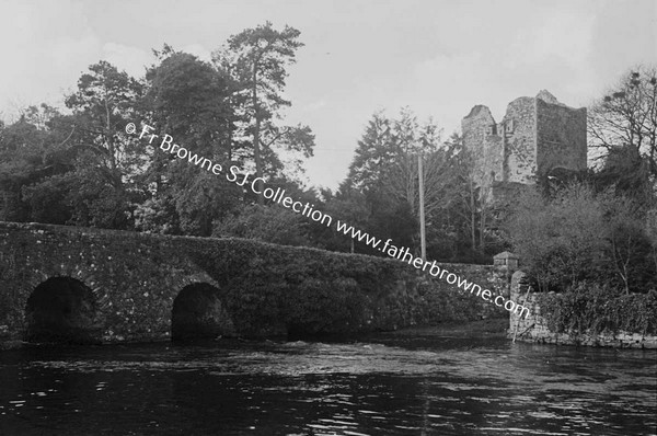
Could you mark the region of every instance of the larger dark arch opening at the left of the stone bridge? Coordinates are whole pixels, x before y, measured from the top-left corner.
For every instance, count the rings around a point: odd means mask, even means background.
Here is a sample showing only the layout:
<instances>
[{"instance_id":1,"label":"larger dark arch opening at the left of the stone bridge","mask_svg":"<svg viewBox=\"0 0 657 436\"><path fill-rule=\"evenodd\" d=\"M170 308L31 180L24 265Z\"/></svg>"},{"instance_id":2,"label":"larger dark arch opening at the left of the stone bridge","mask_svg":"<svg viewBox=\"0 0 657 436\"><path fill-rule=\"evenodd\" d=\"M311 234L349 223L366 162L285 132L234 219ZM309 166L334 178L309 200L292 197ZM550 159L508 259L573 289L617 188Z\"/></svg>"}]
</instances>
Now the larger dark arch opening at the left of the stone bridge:
<instances>
[{"instance_id":1,"label":"larger dark arch opening at the left of the stone bridge","mask_svg":"<svg viewBox=\"0 0 657 436\"><path fill-rule=\"evenodd\" d=\"M25 305L25 341L89 344L101 342L94 292L70 276L38 284Z\"/></svg>"}]
</instances>

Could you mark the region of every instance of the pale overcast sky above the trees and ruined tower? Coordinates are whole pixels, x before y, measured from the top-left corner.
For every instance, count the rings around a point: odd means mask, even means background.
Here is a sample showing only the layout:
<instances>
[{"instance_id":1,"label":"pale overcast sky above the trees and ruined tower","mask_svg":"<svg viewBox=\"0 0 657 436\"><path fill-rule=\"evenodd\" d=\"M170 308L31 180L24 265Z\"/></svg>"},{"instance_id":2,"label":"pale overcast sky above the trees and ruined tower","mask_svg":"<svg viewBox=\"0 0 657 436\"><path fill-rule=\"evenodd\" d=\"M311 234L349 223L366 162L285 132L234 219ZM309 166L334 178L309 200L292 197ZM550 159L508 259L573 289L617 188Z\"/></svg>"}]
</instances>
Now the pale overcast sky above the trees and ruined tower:
<instances>
[{"instance_id":1,"label":"pale overcast sky above the trees and ruined tower","mask_svg":"<svg viewBox=\"0 0 657 436\"><path fill-rule=\"evenodd\" d=\"M266 21L301 32L285 123L312 128L307 182L331 188L378 111L407 106L447 139L475 104L500 119L548 89L587 106L632 67L657 64L657 0L0 0L0 117L64 106L101 59L139 77L164 43L209 60Z\"/></svg>"}]
</instances>

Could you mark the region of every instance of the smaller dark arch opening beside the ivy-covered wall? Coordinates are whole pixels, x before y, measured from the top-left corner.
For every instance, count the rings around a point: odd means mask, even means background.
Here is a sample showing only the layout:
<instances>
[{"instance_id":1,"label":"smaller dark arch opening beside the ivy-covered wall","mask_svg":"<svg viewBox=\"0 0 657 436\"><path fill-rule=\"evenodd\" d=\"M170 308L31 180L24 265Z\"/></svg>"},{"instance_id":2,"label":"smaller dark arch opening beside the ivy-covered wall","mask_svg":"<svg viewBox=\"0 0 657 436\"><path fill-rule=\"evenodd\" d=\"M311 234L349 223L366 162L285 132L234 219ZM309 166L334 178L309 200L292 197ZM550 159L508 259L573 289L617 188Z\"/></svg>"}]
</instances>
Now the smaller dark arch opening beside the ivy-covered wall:
<instances>
[{"instance_id":1,"label":"smaller dark arch opening beside the ivy-covered wall","mask_svg":"<svg viewBox=\"0 0 657 436\"><path fill-rule=\"evenodd\" d=\"M171 311L171 339L189 341L233 336L234 326L226 299L216 286L192 283L181 289Z\"/></svg>"}]
</instances>

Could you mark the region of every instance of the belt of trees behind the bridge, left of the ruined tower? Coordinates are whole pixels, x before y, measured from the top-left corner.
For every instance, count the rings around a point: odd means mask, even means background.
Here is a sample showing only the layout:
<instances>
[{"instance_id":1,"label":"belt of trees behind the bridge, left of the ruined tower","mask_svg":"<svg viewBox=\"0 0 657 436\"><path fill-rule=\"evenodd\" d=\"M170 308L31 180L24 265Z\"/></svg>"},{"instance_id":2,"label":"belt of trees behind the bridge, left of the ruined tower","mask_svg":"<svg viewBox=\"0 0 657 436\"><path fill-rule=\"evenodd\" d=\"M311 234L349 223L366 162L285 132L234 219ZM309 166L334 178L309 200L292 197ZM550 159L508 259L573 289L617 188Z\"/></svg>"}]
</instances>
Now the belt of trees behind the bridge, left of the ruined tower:
<instances>
[{"instance_id":1,"label":"belt of trees behind the bridge, left of the ruined tower","mask_svg":"<svg viewBox=\"0 0 657 436\"><path fill-rule=\"evenodd\" d=\"M338 190L301 182L314 135L280 119L291 104L284 91L287 68L303 46L300 37L292 27L266 23L231 36L211 62L164 44L140 78L107 61L90 66L65 96L67 114L44 104L0 125L0 219L245 237L384 255L289 210L277 214L249 186L197 171L159 152L157 141L148 145L124 133L126 123L139 121L223 168L261 174L267 186L414 252L419 251L422 154L428 256L489 263L502 245L479 199L468 150L458 135L445 144L439 126L420 124L410 108L396 117L372 116ZM274 231L275 222L280 226ZM281 232L284 222L290 228Z\"/></svg>"}]
</instances>

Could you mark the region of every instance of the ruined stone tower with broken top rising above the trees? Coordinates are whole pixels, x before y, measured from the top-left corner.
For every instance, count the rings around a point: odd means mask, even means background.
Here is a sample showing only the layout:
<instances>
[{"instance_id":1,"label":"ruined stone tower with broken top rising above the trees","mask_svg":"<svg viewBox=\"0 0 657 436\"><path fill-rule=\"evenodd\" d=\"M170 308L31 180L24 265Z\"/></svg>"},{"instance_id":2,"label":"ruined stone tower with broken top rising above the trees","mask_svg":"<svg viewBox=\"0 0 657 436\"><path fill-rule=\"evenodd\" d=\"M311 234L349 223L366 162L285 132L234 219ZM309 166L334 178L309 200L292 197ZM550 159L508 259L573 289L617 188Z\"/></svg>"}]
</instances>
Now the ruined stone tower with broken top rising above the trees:
<instances>
[{"instance_id":1,"label":"ruined stone tower with broken top rising above the trees","mask_svg":"<svg viewBox=\"0 0 657 436\"><path fill-rule=\"evenodd\" d=\"M463 142L475 160L474 180L484 198L535 183L555 171L586 170L586 107L573 108L543 90L507 106L500 123L476 105L461 122Z\"/></svg>"}]
</instances>

